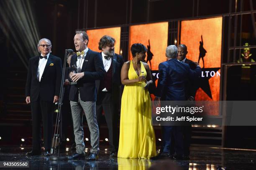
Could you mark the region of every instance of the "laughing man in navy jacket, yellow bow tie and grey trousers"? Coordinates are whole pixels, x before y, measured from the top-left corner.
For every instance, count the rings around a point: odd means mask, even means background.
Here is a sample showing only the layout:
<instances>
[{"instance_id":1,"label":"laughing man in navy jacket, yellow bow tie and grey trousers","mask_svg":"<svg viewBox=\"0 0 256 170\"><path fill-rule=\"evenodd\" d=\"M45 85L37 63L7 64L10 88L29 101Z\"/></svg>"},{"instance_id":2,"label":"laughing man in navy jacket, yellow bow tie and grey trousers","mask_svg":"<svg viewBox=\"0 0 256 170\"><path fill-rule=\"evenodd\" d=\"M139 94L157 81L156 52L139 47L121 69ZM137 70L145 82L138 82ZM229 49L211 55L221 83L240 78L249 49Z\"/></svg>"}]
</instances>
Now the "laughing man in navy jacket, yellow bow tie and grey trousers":
<instances>
[{"instance_id":1,"label":"laughing man in navy jacket, yellow bow tie and grey trousers","mask_svg":"<svg viewBox=\"0 0 256 170\"><path fill-rule=\"evenodd\" d=\"M74 45L77 54L71 58L71 66L77 70L70 72L69 79L77 84L71 85L69 100L72 111L76 153L69 157L70 160L84 157L84 130L82 112L84 111L87 124L91 133L91 150L87 160L97 160L99 152L99 128L96 118L96 80L105 76L102 58L99 53L87 47L89 37L85 31L76 31ZM71 82L71 84L72 84Z\"/></svg>"}]
</instances>

